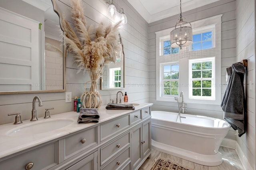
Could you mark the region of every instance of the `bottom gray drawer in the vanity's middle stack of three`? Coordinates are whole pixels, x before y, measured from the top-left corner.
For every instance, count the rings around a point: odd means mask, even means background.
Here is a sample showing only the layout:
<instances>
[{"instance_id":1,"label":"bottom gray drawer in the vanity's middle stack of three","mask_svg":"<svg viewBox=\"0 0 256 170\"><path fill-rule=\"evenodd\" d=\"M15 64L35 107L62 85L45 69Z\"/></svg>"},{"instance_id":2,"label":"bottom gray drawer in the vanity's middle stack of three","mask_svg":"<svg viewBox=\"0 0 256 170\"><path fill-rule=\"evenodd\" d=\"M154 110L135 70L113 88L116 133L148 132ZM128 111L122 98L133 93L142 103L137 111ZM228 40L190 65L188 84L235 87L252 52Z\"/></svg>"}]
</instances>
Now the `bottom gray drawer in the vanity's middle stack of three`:
<instances>
[{"instance_id":1,"label":"bottom gray drawer in the vanity's middle stack of three","mask_svg":"<svg viewBox=\"0 0 256 170\"><path fill-rule=\"evenodd\" d=\"M116 158L104 166L102 170L119 170L128 160L130 160L130 147L116 156Z\"/></svg>"}]
</instances>

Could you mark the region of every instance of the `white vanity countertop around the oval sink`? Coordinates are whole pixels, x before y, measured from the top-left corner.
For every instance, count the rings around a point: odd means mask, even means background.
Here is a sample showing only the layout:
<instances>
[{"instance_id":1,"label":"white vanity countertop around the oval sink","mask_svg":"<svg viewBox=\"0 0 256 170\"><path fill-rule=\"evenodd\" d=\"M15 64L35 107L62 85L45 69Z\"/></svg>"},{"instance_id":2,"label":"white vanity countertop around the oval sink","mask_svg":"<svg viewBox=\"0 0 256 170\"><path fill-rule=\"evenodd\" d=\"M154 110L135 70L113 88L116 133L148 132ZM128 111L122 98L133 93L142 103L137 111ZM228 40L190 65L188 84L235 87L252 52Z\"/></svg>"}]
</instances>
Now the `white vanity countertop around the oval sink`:
<instances>
[{"instance_id":1,"label":"white vanity countertop around the oval sink","mask_svg":"<svg viewBox=\"0 0 256 170\"><path fill-rule=\"evenodd\" d=\"M14 154L16 152L20 152L22 150L40 145L42 143L46 143L48 141L52 141L54 139L58 139L70 133L74 133L76 131L80 131L82 129L98 125L105 121L114 119L118 116L125 115L132 111L136 111L142 109L144 107L152 106L151 103L142 103L138 106L135 106L135 110L107 110L105 106L101 106L98 109L98 113L100 114L99 123L86 123L86 124L78 124L77 119L79 113L74 111L69 111L66 113L60 113L56 115L50 115L51 117L48 119L44 119L43 117L39 117L38 121L30 121L24 120L22 124L14 125L13 123L8 123L4 125L0 125L0 158L8 156L10 154ZM34 135L25 135L25 136L9 136L7 133L18 127L24 127L26 125L31 125L31 123L40 123L42 121L50 121L53 119L72 119L73 122L67 126L62 128L48 131L45 133L39 133Z\"/></svg>"}]
</instances>

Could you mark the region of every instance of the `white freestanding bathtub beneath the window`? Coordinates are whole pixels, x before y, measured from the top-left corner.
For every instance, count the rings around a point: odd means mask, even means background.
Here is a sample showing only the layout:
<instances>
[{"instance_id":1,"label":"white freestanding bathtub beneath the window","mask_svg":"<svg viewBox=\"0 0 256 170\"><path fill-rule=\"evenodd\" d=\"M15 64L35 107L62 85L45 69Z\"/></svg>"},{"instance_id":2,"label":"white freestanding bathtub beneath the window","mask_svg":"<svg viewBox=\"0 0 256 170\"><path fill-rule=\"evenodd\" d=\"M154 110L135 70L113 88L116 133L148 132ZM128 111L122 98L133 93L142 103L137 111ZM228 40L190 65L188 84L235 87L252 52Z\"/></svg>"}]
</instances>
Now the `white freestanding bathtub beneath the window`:
<instances>
[{"instance_id":1,"label":"white freestanding bathtub beneath the window","mask_svg":"<svg viewBox=\"0 0 256 170\"><path fill-rule=\"evenodd\" d=\"M197 164L217 166L230 124L212 117L152 111L152 148ZM180 122L181 121L181 122Z\"/></svg>"}]
</instances>

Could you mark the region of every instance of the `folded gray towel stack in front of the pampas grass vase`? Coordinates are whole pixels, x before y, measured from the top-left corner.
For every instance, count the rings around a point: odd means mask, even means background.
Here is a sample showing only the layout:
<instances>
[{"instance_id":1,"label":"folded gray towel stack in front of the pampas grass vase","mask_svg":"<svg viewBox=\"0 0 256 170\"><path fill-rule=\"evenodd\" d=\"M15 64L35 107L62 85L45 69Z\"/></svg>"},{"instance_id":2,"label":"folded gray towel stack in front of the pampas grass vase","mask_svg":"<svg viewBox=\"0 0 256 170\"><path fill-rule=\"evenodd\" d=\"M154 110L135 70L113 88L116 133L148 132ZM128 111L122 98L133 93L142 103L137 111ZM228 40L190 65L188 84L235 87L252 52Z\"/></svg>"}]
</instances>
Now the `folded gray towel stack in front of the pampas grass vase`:
<instances>
[{"instance_id":1,"label":"folded gray towel stack in front of the pampas grass vase","mask_svg":"<svg viewBox=\"0 0 256 170\"><path fill-rule=\"evenodd\" d=\"M78 116L77 123L98 123L100 115L95 108L80 108L80 114Z\"/></svg>"}]
</instances>

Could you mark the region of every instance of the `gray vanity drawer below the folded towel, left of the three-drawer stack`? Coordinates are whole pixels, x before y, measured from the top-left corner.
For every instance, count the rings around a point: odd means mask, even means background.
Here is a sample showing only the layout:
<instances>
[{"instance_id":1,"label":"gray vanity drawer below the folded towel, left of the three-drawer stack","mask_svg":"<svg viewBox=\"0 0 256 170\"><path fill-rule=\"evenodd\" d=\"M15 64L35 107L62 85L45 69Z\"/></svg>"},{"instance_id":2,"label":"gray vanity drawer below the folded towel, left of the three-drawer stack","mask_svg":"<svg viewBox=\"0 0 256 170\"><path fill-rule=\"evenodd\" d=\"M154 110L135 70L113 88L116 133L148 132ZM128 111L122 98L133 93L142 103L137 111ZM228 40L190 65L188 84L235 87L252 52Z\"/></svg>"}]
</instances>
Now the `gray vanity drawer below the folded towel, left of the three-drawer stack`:
<instances>
[{"instance_id":1,"label":"gray vanity drawer below the folded towel, left of the three-drawer stack","mask_svg":"<svg viewBox=\"0 0 256 170\"><path fill-rule=\"evenodd\" d=\"M63 160L66 160L81 151L93 146L97 146L97 127L92 127L68 136L62 140L59 140L59 142L63 145L64 149Z\"/></svg>"}]
</instances>

